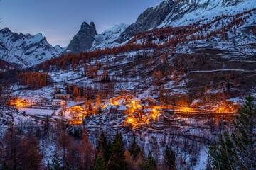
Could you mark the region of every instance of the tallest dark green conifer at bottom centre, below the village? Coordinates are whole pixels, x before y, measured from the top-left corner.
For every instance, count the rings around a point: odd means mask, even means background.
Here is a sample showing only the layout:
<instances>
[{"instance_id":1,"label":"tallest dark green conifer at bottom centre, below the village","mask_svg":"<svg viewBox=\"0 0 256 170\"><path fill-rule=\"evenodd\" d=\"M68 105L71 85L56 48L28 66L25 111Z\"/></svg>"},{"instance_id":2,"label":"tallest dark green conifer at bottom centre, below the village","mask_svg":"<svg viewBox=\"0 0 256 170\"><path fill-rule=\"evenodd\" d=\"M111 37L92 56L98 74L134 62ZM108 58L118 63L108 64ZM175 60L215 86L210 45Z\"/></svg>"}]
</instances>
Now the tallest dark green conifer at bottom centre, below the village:
<instances>
[{"instance_id":1,"label":"tallest dark green conifer at bottom centre, below the village","mask_svg":"<svg viewBox=\"0 0 256 170\"><path fill-rule=\"evenodd\" d=\"M110 157L110 164L107 166L107 169L126 170L128 169L128 164L125 161L125 149L121 133L117 132L117 134L114 135L113 141L112 155Z\"/></svg>"}]
</instances>

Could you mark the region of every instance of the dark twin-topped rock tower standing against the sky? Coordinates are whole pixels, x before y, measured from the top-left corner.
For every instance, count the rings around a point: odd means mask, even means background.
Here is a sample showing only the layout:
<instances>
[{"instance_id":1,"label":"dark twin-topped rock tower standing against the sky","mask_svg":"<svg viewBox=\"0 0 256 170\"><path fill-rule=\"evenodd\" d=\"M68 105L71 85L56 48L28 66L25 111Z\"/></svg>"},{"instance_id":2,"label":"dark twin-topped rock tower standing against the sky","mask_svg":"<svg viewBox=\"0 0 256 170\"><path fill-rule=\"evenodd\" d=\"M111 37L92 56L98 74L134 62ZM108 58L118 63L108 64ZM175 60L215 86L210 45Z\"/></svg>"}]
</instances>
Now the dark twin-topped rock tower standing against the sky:
<instances>
[{"instance_id":1,"label":"dark twin-topped rock tower standing against the sky","mask_svg":"<svg viewBox=\"0 0 256 170\"><path fill-rule=\"evenodd\" d=\"M86 22L82 23L80 30L71 40L66 52L79 54L90 50L92 43L97 35L95 23L91 22L90 25Z\"/></svg>"}]
</instances>

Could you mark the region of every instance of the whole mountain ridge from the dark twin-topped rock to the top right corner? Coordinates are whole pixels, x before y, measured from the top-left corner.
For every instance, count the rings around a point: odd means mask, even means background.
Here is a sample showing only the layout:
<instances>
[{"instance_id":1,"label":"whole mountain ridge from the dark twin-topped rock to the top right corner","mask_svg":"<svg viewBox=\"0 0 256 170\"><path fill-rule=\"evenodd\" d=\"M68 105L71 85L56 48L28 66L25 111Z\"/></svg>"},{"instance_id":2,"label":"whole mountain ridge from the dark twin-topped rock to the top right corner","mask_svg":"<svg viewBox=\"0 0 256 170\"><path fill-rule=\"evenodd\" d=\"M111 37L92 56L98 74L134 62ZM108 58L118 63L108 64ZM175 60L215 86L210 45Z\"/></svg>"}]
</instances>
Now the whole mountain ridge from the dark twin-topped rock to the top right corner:
<instances>
[{"instance_id":1,"label":"whole mountain ridge from the dark twin-topped rock to the top right corner","mask_svg":"<svg viewBox=\"0 0 256 170\"><path fill-rule=\"evenodd\" d=\"M256 8L254 0L165 0L159 5L147 8L132 25L120 24L105 30L100 35L93 33L96 32L93 30L94 23L91 23L91 26L83 23L81 30L70 42L68 50L70 53L78 54L99 48L116 47L123 45L134 34L145 30L166 26L186 26L201 20L207 22L221 14L234 14L252 8ZM83 26L87 27L87 31L82 31ZM119 31L112 31L117 28ZM106 32L110 39L105 38Z\"/></svg>"}]
</instances>

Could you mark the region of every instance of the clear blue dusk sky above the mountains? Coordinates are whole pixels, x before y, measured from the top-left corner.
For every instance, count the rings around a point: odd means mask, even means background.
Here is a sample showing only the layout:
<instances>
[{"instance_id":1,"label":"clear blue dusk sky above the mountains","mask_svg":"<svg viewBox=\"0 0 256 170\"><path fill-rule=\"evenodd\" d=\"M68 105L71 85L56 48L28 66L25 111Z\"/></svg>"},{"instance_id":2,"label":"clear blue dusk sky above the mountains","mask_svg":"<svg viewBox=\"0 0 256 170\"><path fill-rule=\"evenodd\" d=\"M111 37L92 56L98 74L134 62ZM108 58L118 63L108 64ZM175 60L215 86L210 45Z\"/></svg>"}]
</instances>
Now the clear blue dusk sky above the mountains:
<instances>
[{"instance_id":1,"label":"clear blue dusk sky above the mountains","mask_svg":"<svg viewBox=\"0 0 256 170\"><path fill-rule=\"evenodd\" d=\"M119 23L134 23L146 8L163 0L0 0L0 28L43 33L52 45L68 45L83 21L102 33Z\"/></svg>"}]
</instances>

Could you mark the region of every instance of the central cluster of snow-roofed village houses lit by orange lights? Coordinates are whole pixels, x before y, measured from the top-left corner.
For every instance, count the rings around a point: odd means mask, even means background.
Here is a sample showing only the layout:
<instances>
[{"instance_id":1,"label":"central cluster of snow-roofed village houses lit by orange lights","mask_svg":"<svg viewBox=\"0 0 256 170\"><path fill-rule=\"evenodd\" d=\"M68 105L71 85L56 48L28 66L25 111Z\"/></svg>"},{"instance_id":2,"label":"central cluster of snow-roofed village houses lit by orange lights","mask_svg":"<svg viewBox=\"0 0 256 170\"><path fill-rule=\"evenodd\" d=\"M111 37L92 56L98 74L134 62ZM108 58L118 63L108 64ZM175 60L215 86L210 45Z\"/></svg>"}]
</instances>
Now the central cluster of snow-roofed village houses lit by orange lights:
<instances>
[{"instance_id":1,"label":"central cluster of snow-roofed village houses lit by orange lights","mask_svg":"<svg viewBox=\"0 0 256 170\"><path fill-rule=\"evenodd\" d=\"M146 123L147 125L163 125L174 116L174 109L161 108L160 104L151 98L122 99L110 98L110 104L104 106L103 114L128 115L128 125Z\"/></svg>"}]
</instances>

